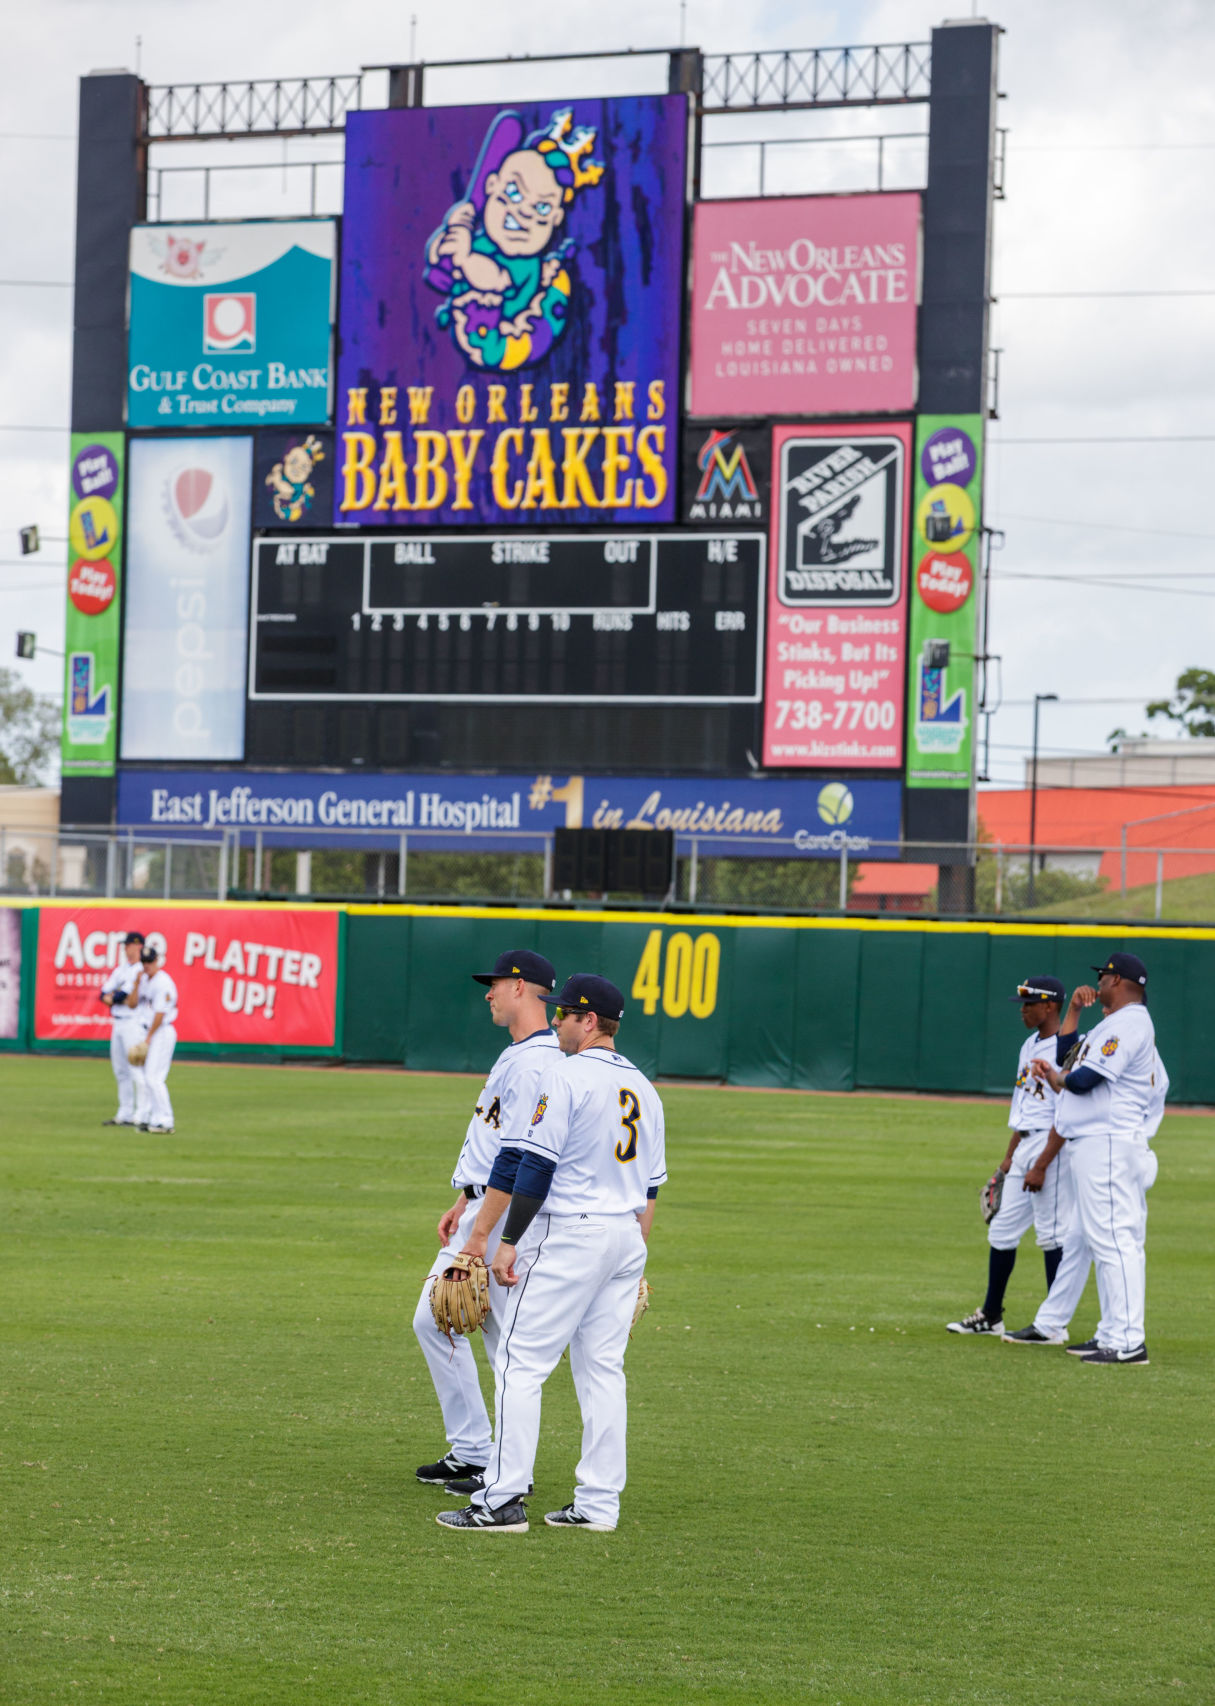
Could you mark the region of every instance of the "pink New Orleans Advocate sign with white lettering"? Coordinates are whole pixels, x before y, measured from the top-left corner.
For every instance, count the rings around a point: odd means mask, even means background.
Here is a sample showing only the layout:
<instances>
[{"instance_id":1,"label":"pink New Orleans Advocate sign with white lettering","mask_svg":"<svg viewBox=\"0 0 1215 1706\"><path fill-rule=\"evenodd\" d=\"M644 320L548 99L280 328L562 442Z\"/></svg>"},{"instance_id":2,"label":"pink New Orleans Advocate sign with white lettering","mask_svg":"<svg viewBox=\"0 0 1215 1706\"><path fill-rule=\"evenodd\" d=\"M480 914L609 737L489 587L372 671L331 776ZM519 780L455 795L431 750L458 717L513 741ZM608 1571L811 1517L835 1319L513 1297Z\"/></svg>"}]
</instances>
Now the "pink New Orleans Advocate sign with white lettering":
<instances>
[{"instance_id":1,"label":"pink New Orleans Advocate sign with white lettering","mask_svg":"<svg viewBox=\"0 0 1215 1706\"><path fill-rule=\"evenodd\" d=\"M918 194L698 201L691 413L910 409L918 278Z\"/></svg>"}]
</instances>

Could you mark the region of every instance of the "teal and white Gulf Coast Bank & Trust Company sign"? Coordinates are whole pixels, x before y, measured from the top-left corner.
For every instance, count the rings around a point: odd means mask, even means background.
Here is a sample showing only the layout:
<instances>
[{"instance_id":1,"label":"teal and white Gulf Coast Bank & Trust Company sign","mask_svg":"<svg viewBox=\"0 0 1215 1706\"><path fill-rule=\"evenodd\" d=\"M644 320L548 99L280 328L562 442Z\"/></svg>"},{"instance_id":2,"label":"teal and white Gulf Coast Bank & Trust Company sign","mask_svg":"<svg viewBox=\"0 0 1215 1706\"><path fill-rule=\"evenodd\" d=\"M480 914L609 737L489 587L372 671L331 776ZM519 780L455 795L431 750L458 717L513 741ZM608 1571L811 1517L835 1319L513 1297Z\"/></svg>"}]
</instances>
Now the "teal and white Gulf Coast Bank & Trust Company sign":
<instances>
[{"instance_id":1,"label":"teal and white Gulf Coast Bank & Trust Company sign","mask_svg":"<svg viewBox=\"0 0 1215 1706\"><path fill-rule=\"evenodd\" d=\"M333 220L137 225L128 426L329 418Z\"/></svg>"}]
</instances>

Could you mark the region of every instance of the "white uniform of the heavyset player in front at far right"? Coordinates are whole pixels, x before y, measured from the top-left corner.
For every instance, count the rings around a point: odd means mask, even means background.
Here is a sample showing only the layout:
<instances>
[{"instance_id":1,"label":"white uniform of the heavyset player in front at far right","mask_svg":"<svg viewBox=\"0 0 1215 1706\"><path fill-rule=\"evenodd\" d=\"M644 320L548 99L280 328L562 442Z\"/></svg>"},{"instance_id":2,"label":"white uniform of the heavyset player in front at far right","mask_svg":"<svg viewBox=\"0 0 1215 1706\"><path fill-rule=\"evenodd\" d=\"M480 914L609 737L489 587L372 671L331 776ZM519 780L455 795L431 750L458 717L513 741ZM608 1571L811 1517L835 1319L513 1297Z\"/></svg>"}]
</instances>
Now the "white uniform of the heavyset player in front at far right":
<instances>
[{"instance_id":1,"label":"white uniform of the heavyset player in front at far right","mask_svg":"<svg viewBox=\"0 0 1215 1706\"><path fill-rule=\"evenodd\" d=\"M1063 1261L1034 1317L1041 1334L1060 1334L1075 1314L1089 1266L1097 1268L1101 1320L1097 1343L1137 1351L1145 1341L1147 1192L1155 1182L1150 1150L1169 1090L1147 1007L1133 1003L1101 1018L1080 1046L1075 1066L1104 1080L1085 1095L1063 1090L1055 1129L1065 1152L1075 1208L1063 1233Z\"/></svg>"}]
</instances>

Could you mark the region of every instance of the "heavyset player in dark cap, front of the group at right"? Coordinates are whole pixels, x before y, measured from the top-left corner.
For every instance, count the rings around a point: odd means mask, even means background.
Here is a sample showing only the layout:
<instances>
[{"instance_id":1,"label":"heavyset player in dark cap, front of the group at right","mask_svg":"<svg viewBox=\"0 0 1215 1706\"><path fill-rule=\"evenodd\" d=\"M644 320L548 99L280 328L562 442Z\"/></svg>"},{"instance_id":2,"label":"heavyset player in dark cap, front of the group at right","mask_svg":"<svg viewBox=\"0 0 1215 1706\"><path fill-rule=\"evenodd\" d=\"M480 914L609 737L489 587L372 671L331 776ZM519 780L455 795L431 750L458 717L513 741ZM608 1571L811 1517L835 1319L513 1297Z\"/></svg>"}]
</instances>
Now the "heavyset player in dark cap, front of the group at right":
<instances>
[{"instance_id":1,"label":"heavyset player in dark cap, front of the group at right","mask_svg":"<svg viewBox=\"0 0 1215 1706\"><path fill-rule=\"evenodd\" d=\"M1147 1010L1147 967L1137 954L1111 954L1094 966L1096 989L1072 996L1060 1053L1067 1065L1036 1063L1060 1092L1055 1129L1026 1191L1041 1189L1055 1153L1065 1152L1075 1184L1075 1211L1065 1232L1065 1259L1032 1326L1007 1334L1009 1344L1067 1344L1067 1327L1084 1293L1089 1264L1097 1269L1101 1320L1092 1339L1070 1346L1085 1363L1147 1367L1147 1192L1155 1184L1150 1143L1164 1117L1169 1075ZM1102 1017L1080 1041L1078 1013L1101 1003Z\"/></svg>"}]
</instances>

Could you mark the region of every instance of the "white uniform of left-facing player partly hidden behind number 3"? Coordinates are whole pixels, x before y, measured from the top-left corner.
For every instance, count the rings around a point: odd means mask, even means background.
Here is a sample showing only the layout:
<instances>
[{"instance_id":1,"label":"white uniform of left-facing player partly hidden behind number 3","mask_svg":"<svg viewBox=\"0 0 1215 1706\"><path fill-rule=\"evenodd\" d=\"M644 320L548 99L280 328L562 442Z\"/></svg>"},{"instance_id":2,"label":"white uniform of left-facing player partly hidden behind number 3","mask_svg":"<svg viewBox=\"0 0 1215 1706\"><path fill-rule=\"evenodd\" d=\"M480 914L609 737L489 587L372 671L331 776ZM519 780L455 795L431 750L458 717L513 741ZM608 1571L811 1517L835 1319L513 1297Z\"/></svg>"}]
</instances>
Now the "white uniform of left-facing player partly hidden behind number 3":
<instances>
[{"instance_id":1,"label":"white uniform of left-facing player partly hidden behind number 3","mask_svg":"<svg viewBox=\"0 0 1215 1706\"><path fill-rule=\"evenodd\" d=\"M444 1413L444 1428L451 1455L462 1464L486 1464L493 1440L490 1430L490 1413L481 1397L481 1382L476 1373L476 1358L468 1338L457 1336L456 1348L435 1327L430 1312L430 1285L435 1274L442 1273L452 1250L462 1250L476 1216L481 1210L481 1198L490 1179L490 1170L502 1145L520 1145L527 1133L541 1075L553 1058L560 1056L556 1036L544 1025L543 1030L512 1042L498 1054L485 1088L476 1099L473 1117L468 1123L464 1145L452 1174L452 1189L464 1191L469 1198L451 1244L435 1256L430 1273L421 1288L418 1307L413 1312L413 1331L418 1336L430 1378L435 1382L439 1407ZM490 1235L485 1250L486 1262L491 1262L498 1249L498 1230ZM490 1314L485 1317L481 1332L485 1351L493 1367L495 1348L502 1315L509 1293L490 1276Z\"/></svg>"}]
</instances>

